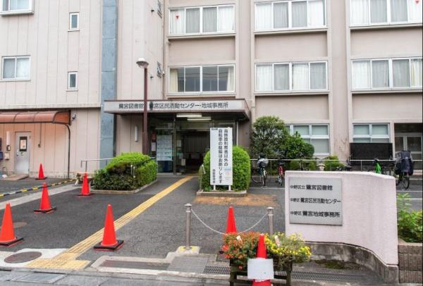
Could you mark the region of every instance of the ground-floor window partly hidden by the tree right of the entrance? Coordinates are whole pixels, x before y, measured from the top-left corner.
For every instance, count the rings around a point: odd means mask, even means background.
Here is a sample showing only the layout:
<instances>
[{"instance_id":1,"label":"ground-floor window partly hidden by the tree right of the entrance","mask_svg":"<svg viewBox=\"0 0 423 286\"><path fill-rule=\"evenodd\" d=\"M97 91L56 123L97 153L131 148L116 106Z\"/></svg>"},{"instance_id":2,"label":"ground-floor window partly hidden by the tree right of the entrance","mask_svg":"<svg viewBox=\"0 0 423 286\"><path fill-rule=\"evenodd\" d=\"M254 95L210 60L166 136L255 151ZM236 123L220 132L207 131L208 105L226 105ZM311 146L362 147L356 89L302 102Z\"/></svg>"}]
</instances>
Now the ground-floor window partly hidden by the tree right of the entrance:
<instances>
[{"instance_id":1,"label":"ground-floor window partly hidden by the tree right of the entrance","mask_svg":"<svg viewBox=\"0 0 423 286\"><path fill-rule=\"evenodd\" d=\"M313 145L315 156L330 154L329 125L289 125L289 129L291 135L298 132L305 142Z\"/></svg>"}]
</instances>

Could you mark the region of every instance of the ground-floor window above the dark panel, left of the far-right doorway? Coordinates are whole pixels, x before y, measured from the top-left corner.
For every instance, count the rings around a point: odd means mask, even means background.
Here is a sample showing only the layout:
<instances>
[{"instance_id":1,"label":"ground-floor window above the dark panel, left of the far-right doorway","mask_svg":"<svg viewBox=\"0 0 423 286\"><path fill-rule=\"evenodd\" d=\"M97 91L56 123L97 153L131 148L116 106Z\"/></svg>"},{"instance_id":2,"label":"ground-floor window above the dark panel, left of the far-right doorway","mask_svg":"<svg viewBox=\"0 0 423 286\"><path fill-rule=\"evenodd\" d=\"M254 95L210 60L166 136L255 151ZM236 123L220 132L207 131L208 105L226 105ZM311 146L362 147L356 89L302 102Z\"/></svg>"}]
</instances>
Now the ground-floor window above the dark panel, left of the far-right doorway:
<instances>
[{"instance_id":1,"label":"ground-floor window above the dark panel, left of the far-right doorway","mask_svg":"<svg viewBox=\"0 0 423 286\"><path fill-rule=\"evenodd\" d=\"M354 143L389 143L388 124L355 124Z\"/></svg>"}]
</instances>

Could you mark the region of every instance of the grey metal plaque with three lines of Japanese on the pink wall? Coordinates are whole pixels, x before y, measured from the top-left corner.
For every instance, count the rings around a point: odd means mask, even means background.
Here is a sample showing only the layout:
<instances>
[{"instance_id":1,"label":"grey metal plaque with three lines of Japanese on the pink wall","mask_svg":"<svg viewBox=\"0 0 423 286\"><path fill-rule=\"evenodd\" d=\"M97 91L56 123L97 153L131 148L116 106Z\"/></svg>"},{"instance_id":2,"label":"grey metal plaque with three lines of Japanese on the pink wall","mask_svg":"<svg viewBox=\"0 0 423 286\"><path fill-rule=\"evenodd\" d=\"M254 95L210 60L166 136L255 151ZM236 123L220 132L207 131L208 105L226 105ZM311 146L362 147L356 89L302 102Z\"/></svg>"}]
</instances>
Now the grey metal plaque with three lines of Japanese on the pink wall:
<instances>
[{"instance_id":1,"label":"grey metal plaque with three lines of Japanese on the pink wall","mask_svg":"<svg viewBox=\"0 0 423 286\"><path fill-rule=\"evenodd\" d=\"M289 221L312 225L342 225L341 178L290 176Z\"/></svg>"}]
</instances>

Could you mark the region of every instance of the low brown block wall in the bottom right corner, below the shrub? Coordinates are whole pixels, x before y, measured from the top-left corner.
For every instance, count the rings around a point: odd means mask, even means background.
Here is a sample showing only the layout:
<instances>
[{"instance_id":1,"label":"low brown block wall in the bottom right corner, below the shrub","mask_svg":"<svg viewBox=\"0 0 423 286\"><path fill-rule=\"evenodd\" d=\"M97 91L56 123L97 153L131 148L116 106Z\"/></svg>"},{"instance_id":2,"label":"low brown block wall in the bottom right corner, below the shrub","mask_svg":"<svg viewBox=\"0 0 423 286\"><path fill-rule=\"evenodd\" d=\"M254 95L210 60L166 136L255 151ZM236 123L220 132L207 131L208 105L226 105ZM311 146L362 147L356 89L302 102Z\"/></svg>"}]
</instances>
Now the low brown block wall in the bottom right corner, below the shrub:
<instances>
[{"instance_id":1,"label":"low brown block wall in the bottom right corner, below the shrub","mask_svg":"<svg viewBox=\"0 0 423 286\"><path fill-rule=\"evenodd\" d=\"M423 283L422 249L422 243L411 243L398 239L400 283Z\"/></svg>"}]
</instances>

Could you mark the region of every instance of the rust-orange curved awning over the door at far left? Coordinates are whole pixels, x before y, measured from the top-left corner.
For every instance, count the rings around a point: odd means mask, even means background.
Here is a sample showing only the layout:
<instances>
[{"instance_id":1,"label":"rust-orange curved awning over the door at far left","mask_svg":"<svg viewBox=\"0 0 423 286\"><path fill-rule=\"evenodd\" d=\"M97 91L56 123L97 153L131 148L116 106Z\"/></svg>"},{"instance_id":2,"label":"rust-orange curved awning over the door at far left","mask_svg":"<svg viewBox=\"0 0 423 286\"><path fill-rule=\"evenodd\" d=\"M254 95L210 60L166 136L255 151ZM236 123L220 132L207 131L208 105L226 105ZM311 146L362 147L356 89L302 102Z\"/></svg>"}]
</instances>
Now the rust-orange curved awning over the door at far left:
<instances>
[{"instance_id":1,"label":"rust-orange curved awning over the door at far left","mask_svg":"<svg viewBox=\"0 0 423 286\"><path fill-rule=\"evenodd\" d=\"M0 124L54 123L71 124L69 111L0 112Z\"/></svg>"}]
</instances>

